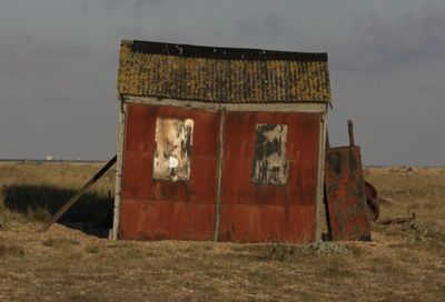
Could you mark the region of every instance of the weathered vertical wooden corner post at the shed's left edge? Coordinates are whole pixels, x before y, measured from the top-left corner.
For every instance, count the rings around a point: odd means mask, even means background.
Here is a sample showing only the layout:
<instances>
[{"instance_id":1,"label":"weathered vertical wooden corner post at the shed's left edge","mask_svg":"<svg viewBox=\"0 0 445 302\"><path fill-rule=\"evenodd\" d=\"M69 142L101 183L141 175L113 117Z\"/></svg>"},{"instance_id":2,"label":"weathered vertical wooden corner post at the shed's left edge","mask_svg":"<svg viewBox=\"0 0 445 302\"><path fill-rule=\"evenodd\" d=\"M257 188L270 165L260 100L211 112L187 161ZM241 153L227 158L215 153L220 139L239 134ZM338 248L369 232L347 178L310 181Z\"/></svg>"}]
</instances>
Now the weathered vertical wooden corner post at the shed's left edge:
<instances>
[{"instance_id":1,"label":"weathered vertical wooden corner post at the shed's left edge","mask_svg":"<svg viewBox=\"0 0 445 302\"><path fill-rule=\"evenodd\" d=\"M121 189L122 189L122 174L123 174L123 144L127 125L127 104L121 101L119 110L119 134L118 134L118 151L116 162L116 183L115 183L115 210L112 220L111 239L119 238L119 223L120 223L120 205L121 205Z\"/></svg>"}]
</instances>

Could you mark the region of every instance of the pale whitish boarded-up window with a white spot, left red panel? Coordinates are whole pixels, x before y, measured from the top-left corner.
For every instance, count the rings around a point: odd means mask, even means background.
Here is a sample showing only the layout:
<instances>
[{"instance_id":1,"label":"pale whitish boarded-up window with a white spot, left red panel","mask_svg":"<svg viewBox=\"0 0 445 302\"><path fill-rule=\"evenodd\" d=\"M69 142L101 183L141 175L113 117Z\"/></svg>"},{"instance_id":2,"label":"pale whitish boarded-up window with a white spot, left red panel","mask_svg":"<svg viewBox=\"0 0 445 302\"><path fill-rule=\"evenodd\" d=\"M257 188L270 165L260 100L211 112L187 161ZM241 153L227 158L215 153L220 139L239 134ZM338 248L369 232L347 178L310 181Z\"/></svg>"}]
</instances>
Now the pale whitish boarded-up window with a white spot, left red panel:
<instances>
[{"instance_id":1,"label":"pale whitish boarded-up window with a white spot, left red panel","mask_svg":"<svg viewBox=\"0 0 445 302\"><path fill-rule=\"evenodd\" d=\"M192 133L194 121L190 119L156 120L155 179L170 181L190 179Z\"/></svg>"}]
</instances>

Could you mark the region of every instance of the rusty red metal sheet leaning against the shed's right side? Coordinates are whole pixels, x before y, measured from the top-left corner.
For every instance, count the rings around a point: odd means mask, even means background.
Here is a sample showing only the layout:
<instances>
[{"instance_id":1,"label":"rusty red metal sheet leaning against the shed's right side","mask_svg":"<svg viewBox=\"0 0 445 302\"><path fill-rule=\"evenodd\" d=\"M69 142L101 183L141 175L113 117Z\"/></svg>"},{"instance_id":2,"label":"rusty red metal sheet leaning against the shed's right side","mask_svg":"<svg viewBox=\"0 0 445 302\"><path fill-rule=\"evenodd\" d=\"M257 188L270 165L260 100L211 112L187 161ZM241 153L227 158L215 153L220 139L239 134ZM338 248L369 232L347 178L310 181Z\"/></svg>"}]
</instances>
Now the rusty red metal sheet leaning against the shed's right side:
<instances>
[{"instance_id":1,"label":"rusty red metal sheet leaning against the shed's right side","mask_svg":"<svg viewBox=\"0 0 445 302\"><path fill-rule=\"evenodd\" d=\"M333 240L370 240L358 147L326 150L325 190Z\"/></svg>"}]
</instances>

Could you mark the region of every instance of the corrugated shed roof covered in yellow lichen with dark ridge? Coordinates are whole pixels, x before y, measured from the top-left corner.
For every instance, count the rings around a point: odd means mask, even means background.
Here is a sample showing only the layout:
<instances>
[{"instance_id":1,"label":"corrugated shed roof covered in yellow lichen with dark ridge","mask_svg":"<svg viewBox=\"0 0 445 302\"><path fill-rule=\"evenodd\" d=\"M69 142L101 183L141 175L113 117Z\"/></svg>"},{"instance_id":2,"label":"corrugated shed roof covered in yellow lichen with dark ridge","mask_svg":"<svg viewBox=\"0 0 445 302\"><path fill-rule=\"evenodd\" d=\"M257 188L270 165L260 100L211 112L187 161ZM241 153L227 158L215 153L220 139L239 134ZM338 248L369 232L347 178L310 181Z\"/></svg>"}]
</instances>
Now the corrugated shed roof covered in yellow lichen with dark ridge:
<instances>
[{"instance_id":1,"label":"corrugated shed roof covered in yellow lichen with dark ridge","mask_svg":"<svg viewBox=\"0 0 445 302\"><path fill-rule=\"evenodd\" d=\"M326 53L122 41L120 94L222 103L329 102Z\"/></svg>"}]
</instances>

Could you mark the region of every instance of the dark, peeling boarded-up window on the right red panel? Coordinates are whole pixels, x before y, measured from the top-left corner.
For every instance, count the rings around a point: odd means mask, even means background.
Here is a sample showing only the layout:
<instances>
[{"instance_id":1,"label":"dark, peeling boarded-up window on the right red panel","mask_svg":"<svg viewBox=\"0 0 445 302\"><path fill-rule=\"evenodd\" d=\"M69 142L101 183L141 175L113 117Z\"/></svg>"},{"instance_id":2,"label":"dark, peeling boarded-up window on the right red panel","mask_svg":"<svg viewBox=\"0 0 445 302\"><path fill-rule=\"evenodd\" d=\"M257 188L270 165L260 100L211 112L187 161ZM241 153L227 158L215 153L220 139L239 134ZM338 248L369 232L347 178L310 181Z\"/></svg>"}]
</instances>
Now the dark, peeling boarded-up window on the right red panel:
<instances>
[{"instance_id":1,"label":"dark, peeling boarded-up window on the right red panel","mask_svg":"<svg viewBox=\"0 0 445 302\"><path fill-rule=\"evenodd\" d=\"M286 124L257 124L251 182L256 184L286 184Z\"/></svg>"}]
</instances>

